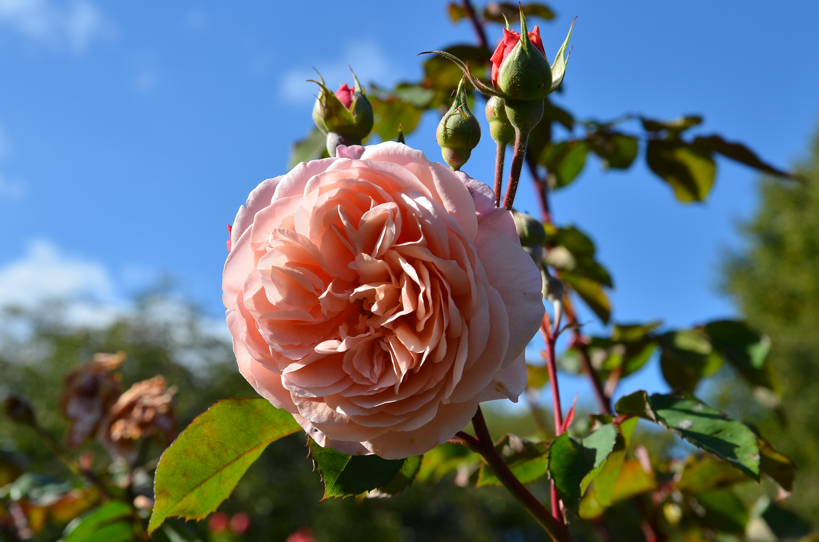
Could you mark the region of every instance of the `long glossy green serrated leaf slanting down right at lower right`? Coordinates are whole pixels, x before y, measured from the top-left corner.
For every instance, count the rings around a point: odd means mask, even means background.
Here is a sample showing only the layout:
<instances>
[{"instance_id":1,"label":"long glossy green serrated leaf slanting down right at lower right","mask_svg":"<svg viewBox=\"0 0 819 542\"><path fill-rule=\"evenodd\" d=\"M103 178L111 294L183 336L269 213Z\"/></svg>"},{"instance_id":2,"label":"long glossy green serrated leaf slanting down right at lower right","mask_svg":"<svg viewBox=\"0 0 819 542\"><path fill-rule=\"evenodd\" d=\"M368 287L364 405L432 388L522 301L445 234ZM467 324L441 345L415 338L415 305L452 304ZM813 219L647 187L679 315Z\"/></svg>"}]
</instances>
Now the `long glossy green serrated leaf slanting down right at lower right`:
<instances>
[{"instance_id":1,"label":"long glossy green serrated leaf slanting down right at lower right","mask_svg":"<svg viewBox=\"0 0 819 542\"><path fill-rule=\"evenodd\" d=\"M699 400L657 393L648 397L645 391L635 391L619 400L615 409L657 422L759 480L757 436L744 423L731 420Z\"/></svg>"}]
</instances>

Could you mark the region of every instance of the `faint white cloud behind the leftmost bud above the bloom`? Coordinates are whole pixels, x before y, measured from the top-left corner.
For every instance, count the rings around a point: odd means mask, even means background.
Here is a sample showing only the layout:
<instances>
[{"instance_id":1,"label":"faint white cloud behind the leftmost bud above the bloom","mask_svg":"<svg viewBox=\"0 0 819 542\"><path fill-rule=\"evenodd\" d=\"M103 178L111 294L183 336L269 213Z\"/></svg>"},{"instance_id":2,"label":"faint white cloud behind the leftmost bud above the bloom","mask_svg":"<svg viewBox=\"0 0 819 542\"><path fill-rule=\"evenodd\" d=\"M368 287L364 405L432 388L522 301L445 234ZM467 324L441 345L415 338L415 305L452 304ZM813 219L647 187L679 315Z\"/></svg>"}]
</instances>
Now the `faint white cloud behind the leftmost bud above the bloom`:
<instances>
[{"instance_id":1,"label":"faint white cloud behind the leftmost bud above the bloom","mask_svg":"<svg viewBox=\"0 0 819 542\"><path fill-rule=\"evenodd\" d=\"M341 58L336 61L315 67L324 77L328 87L335 90L340 84L352 84L350 67L355 70L355 75L363 84L373 79L385 84L396 71L392 64L378 43L359 41L348 43L342 51ZM288 70L281 85L282 97L292 103L312 102L317 87L314 83L308 83L307 79L318 79L314 70L304 68Z\"/></svg>"}]
</instances>

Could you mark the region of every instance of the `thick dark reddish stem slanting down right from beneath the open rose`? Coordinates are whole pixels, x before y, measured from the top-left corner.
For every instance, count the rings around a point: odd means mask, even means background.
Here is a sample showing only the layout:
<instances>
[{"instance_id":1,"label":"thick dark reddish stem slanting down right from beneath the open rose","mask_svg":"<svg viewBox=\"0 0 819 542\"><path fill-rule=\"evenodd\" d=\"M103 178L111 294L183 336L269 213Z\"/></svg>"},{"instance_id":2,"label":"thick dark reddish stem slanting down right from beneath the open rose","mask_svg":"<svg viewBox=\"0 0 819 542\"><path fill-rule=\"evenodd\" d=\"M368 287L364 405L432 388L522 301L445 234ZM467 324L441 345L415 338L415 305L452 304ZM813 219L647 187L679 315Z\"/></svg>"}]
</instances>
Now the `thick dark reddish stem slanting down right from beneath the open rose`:
<instances>
[{"instance_id":1,"label":"thick dark reddish stem slanting down right from beneath the open rose","mask_svg":"<svg viewBox=\"0 0 819 542\"><path fill-rule=\"evenodd\" d=\"M495 475L503 483L509 493L518 499L523 508L532 514L532 517L541 524L543 530L551 537L554 542L571 542L572 537L568 534L566 526L562 522L557 522L554 517L551 517L549 510L541 504L541 501L535 498L535 495L529 492L525 486L514 476L509 467L506 466L504 459L500 457L495 445L492 442L492 437L489 435L489 430L486 428L486 421L483 419L481 407L477 408L475 417L472 418L472 427L475 430L475 436L458 431L456 437L461 440L469 449L481 454L486 463L495 472ZM476 438L477 437L477 438Z\"/></svg>"}]
</instances>

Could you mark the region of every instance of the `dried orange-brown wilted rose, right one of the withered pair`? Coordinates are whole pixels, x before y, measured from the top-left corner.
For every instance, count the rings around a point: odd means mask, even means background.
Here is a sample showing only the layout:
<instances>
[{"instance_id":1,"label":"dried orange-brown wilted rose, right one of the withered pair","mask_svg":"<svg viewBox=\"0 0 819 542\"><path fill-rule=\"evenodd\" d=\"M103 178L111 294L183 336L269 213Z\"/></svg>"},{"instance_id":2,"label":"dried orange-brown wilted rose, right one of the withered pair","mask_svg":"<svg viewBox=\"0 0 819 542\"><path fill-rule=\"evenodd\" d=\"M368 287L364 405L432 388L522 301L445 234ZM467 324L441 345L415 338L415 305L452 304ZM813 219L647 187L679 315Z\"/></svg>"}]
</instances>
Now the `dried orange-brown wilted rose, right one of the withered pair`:
<instances>
[{"instance_id":1,"label":"dried orange-brown wilted rose, right one of the withered pair","mask_svg":"<svg viewBox=\"0 0 819 542\"><path fill-rule=\"evenodd\" d=\"M165 377L137 382L111 407L100 427L99 437L115 456L133 460L134 441L161 433L170 444L176 418L173 397L176 386L167 386Z\"/></svg>"}]
</instances>

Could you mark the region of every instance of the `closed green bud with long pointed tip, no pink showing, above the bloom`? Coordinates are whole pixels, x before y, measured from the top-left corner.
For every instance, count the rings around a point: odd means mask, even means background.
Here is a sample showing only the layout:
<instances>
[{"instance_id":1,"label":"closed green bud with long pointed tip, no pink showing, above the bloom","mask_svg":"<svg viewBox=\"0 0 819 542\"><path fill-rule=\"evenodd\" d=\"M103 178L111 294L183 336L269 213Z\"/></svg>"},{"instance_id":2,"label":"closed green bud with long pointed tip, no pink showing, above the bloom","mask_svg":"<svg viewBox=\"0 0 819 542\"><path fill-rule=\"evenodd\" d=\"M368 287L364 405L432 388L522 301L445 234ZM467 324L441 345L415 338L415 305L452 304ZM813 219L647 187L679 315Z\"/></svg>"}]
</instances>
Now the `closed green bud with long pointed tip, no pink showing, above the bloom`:
<instances>
[{"instance_id":1,"label":"closed green bud with long pointed tip, no pink showing, above the bloom","mask_svg":"<svg viewBox=\"0 0 819 542\"><path fill-rule=\"evenodd\" d=\"M453 171L466 164L473 148L481 141L481 124L469 111L466 93L466 78L462 77L455 92L455 101L450 111L441 117L436 132L441 155Z\"/></svg>"}]
</instances>

